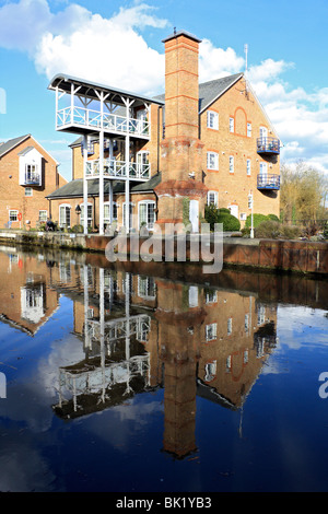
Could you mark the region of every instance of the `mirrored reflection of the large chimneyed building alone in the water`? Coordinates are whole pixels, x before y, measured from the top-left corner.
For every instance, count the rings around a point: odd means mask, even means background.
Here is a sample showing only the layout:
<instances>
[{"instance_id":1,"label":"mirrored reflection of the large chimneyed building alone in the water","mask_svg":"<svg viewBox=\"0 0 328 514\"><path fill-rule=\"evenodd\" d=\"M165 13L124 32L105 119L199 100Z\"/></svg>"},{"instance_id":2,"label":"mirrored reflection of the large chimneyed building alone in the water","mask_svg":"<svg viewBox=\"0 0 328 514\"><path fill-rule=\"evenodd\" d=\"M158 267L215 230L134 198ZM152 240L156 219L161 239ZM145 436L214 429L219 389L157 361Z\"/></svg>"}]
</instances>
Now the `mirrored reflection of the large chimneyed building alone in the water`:
<instances>
[{"instance_id":1,"label":"mirrored reflection of the large chimneyed building alone in the water","mask_svg":"<svg viewBox=\"0 0 328 514\"><path fill-rule=\"evenodd\" d=\"M114 269L52 270L73 288L85 359L59 370L56 413L73 419L164 387L163 449L197 449L197 396L239 409L276 347L276 306L255 296Z\"/></svg>"}]
</instances>

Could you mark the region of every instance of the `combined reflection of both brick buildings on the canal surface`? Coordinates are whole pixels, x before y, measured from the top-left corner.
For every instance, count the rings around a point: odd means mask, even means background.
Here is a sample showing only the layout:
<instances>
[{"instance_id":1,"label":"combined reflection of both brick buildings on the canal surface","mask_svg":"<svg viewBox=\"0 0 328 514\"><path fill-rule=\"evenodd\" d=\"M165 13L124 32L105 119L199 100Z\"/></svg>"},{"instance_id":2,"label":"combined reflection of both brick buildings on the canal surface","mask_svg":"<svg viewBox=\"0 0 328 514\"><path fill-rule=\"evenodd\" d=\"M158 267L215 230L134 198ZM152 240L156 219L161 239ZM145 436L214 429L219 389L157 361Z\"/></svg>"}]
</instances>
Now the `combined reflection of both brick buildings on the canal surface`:
<instances>
[{"instance_id":1,"label":"combined reflection of both brick buildings on the canal surface","mask_svg":"<svg viewBox=\"0 0 328 514\"><path fill-rule=\"evenodd\" d=\"M90 262L92 256L2 248L1 322L35 337L69 299L81 352L58 366L56 419L72 423L162 389L159 451L186 459L199 449L197 398L242 413L277 348L273 279L259 294L232 271L222 274L227 288Z\"/></svg>"}]
</instances>

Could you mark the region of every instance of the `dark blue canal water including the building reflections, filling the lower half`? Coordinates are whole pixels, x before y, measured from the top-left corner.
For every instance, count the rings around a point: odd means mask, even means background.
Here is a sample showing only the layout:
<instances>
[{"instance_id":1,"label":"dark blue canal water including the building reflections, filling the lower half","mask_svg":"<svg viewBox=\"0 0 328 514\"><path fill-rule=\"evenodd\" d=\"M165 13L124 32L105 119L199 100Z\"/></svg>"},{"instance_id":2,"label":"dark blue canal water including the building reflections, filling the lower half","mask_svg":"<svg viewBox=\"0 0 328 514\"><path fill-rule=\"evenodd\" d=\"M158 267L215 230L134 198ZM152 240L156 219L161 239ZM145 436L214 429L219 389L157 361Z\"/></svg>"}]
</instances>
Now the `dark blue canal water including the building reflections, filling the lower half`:
<instances>
[{"instance_id":1,"label":"dark blue canal water including the building reflections, filling the lower half","mask_svg":"<svg viewBox=\"0 0 328 514\"><path fill-rule=\"evenodd\" d=\"M133 266L1 247L0 490L327 491L327 281Z\"/></svg>"}]
</instances>

